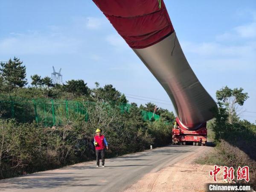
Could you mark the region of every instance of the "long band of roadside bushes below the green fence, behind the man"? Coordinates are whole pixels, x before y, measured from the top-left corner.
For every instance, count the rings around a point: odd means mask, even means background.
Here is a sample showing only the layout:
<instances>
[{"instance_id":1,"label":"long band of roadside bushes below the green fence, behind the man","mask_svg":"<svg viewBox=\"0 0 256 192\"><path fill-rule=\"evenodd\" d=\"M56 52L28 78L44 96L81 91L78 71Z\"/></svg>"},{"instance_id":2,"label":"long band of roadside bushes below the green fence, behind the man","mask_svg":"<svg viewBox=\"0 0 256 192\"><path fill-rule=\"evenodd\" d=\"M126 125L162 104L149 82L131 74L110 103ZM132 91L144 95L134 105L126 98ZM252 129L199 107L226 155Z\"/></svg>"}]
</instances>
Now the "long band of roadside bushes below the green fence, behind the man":
<instances>
[{"instance_id":1,"label":"long band of roadside bushes below the green fence, behind the man","mask_svg":"<svg viewBox=\"0 0 256 192\"><path fill-rule=\"evenodd\" d=\"M70 111L68 119L59 119L61 126L52 128L0 119L0 179L93 160L96 128L108 140L107 157L171 142L169 125L161 120L143 121L136 106L131 106L129 113L120 113L118 107L102 102L87 107L87 122L84 115Z\"/></svg>"}]
</instances>

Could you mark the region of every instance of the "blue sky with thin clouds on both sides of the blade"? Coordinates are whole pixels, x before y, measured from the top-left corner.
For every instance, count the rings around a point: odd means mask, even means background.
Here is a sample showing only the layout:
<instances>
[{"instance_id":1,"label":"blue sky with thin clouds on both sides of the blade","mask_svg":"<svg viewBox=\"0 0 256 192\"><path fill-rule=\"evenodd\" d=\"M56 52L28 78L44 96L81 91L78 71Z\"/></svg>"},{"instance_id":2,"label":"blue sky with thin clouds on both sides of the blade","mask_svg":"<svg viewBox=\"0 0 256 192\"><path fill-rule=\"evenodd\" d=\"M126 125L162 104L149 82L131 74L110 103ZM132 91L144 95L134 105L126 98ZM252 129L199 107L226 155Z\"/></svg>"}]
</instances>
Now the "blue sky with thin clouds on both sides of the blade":
<instances>
[{"instance_id":1,"label":"blue sky with thin clouds on both sides of the blade","mask_svg":"<svg viewBox=\"0 0 256 192\"><path fill-rule=\"evenodd\" d=\"M181 47L215 99L224 87L250 98L241 117L256 120L256 1L165 0ZM129 102L156 102L173 110L166 92L91 0L0 0L0 60L14 56L30 75L98 81L130 94ZM136 96L139 99L134 99ZM141 100L144 99L144 100ZM254 112L254 113L251 113Z\"/></svg>"}]
</instances>

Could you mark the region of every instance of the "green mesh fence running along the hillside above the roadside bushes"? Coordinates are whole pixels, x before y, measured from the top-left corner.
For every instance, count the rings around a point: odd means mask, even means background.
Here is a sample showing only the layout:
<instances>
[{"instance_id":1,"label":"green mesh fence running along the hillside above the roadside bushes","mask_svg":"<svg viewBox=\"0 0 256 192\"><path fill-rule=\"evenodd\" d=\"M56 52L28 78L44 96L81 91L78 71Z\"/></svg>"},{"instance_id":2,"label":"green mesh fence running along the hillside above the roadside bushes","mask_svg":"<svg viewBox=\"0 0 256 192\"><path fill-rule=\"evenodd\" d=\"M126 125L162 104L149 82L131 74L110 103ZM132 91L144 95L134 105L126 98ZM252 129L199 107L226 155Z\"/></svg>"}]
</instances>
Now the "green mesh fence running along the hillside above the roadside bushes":
<instances>
[{"instance_id":1,"label":"green mesh fence running along the hillside above the roadside bushes","mask_svg":"<svg viewBox=\"0 0 256 192\"><path fill-rule=\"evenodd\" d=\"M2 119L14 118L18 122L40 122L46 127L61 125L64 119L69 119L70 115L81 114L87 122L89 118L88 109L95 105L94 102L80 102L73 100L53 100L53 99L26 99L0 95L0 117ZM102 105L111 108L113 106L120 109L120 113L130 111L131 104L128 103L103 103ZM141 111L143 119L158 120L159 115L149 111Z\"/></svg>"}]
</instances>

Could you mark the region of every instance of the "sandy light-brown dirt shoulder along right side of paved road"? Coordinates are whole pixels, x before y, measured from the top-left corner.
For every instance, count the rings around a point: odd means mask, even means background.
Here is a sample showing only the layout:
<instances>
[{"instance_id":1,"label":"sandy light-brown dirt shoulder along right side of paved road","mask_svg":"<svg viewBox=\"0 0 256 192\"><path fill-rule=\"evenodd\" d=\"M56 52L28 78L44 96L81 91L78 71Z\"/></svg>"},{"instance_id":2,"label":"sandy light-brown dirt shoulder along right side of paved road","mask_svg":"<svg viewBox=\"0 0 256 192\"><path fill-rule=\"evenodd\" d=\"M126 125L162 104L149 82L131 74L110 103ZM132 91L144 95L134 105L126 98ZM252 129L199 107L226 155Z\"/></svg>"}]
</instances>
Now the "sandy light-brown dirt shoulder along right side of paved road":
<instances>
[{"instance_id":1,"label":"sandy light-brown dirt shoulder along right side of paved road","mask_svg":"<svg viewBox=\"0 0 256 192\"><path fill-rule=\"evenodd\" d=\"M158 172L146 174L139 181L126 188L126 192L193 192L205 191L205 183L212 183L209 176L212 166L195 163L195 159L203 153L211 151L211 147L202 149L189 157L166 166Z\"/></svg>"}]
</instances>

